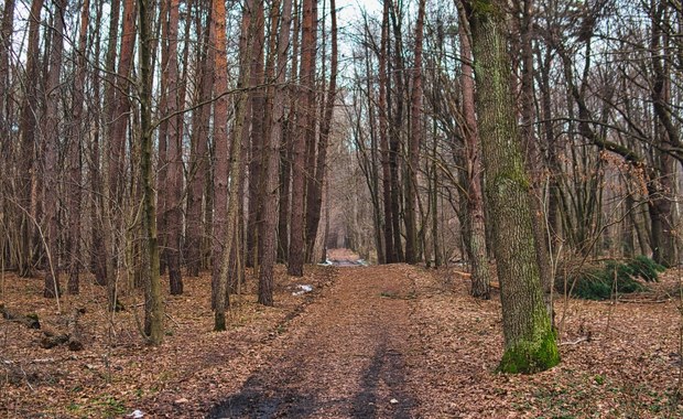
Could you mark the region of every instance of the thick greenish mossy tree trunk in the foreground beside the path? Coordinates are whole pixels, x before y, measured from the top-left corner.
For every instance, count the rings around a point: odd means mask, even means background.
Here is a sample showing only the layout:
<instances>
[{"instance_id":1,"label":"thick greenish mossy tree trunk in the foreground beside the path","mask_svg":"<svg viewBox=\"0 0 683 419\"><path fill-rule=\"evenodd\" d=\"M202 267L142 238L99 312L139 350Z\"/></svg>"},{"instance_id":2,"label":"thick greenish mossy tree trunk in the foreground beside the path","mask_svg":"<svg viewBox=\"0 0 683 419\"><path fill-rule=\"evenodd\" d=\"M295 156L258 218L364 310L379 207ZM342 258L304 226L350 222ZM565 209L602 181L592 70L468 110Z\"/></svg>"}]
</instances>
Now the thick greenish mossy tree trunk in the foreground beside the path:
<instances>
[{"instance_id":1,"label":"thick greenish mossy tree trunk in the foreground beside the path","mask_svg":"<svg viewBox=\"0 0 683 419\"><path fill-rule=\"evenodd\" d=\"M541 276L529 208L529 176L510 88L503 4L468 2L473 31L479 135L494 253L502 302L505 354L500 370L535 373L560 362L543 303Z\"/></svg>"}]
</instances>

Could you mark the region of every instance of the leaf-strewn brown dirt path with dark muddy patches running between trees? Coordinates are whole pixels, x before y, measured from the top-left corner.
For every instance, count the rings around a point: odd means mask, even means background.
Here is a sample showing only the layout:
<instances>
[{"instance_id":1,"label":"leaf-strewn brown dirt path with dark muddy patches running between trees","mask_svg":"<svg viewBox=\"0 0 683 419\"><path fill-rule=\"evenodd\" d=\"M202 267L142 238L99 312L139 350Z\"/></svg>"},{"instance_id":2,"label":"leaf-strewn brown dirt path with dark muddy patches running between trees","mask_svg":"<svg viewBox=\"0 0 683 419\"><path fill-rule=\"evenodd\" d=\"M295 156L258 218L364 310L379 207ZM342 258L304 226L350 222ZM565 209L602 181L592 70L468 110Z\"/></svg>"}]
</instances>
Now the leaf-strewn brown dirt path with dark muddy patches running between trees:
<instances>
[{"instance_id":1,"label":"leaf-strewn brown dirt path with dark muddy patches running between trees","mask_svg":"<svg viewBox=\"0 0 683 419\"><path fill-rule=\"evenodd\" d=\"M338 268L279 348L209 418L411 418L414 283L397 266Z\"/></svg>"}]
</instances>

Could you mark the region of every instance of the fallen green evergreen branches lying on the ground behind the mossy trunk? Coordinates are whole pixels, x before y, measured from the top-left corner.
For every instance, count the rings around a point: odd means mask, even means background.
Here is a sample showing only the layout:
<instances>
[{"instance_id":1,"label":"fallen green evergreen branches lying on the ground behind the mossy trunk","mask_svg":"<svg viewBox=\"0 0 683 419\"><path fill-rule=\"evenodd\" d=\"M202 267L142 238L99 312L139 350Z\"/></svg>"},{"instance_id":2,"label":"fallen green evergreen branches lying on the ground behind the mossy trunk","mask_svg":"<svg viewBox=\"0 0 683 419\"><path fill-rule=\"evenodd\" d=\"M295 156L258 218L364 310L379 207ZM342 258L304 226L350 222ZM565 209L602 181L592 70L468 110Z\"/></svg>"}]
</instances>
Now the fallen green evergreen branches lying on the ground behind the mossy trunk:
<instances>
[{"instance_id":1,"label":"fallen green evergreen branches lying on the ground behind the mossy trunk","mask_svg":"<svg viewBox=\"0 0 683 419\"><path fill-rule=\"evenodd\" d=\"M625 262L609 260L601 265L583 267L566 278L572 296L585 300L607 300L614 292L631 293L646 290L639 280L654 282L664 267L647 256L637 256ZM564 278L556 283L564 291Z\"/></svg>"}]
</instances>

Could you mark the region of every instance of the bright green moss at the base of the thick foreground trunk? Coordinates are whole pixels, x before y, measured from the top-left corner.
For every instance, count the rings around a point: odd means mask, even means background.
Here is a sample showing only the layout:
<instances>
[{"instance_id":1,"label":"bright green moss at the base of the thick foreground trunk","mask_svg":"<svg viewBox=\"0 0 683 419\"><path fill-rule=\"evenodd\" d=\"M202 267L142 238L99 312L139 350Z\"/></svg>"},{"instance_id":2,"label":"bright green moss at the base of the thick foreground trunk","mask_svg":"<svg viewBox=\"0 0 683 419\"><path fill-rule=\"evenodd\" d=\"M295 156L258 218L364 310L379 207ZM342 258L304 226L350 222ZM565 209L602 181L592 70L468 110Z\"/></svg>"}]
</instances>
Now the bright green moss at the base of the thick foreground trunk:
<instances>
[{"instance_id":1,"label":"bright green moss at the base of the thick foreground trunk","mask_svg":"<svg viewBox=\"0 0 683 419\"><path fill-rule=\"evenodd\" d=\"M549 331L533 342L521 342L506 350L498 372L507 374L534 374L560 363L555 333Z\"/></svg>"}]
</instances>

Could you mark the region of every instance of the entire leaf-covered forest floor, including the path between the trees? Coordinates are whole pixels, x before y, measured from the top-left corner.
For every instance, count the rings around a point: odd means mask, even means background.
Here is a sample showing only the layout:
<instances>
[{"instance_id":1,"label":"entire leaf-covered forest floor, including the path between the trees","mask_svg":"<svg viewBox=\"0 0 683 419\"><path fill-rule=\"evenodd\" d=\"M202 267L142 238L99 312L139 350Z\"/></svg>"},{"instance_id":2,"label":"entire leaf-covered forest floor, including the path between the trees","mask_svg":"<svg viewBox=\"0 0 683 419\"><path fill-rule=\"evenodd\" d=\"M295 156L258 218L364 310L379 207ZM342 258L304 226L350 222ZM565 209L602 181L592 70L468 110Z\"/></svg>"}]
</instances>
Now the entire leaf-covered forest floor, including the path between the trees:
<instances>
[{"instance_id":1,"label":"entire leaf-covered forest floor, including the path between the trees","mask_svg":"<svg viewBox=\"0 0 683 419\"><path fill-rule=\"evenodd\" d=\"M468 297L459 267L315 266L303 278L279 267L275 307L256 303L249 277L221 333L208 276L185 278L183 296L166 296L160 347L138 333L140 297L107 315L104 290L84 281L61 301L85 309L83 351L44 350L42 331L0 319L0 418L681 417L681 275L616 302L557 298L562 363L532 376L495 372L499 296ZM41 280L0 286L6 308L64 327Z\"/></svg>"}]
</instances>

